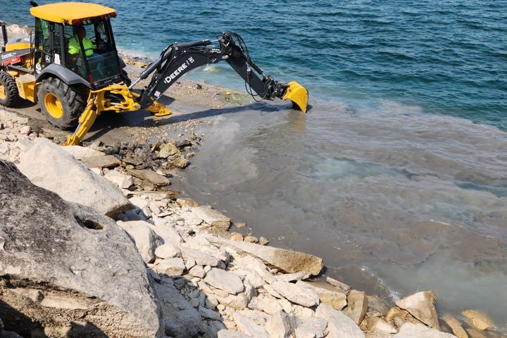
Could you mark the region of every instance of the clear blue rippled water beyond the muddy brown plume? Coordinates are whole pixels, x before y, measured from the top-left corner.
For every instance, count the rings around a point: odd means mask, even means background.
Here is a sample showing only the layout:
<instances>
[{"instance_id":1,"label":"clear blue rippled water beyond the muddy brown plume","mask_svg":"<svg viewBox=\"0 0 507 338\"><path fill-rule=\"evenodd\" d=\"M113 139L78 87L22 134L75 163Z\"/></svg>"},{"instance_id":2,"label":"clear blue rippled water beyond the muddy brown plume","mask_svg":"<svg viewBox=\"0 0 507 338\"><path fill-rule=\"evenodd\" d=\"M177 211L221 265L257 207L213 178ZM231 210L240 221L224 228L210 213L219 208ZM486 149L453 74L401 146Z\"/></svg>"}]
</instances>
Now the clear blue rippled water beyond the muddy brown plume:
<instances>
[{"instance_id":1,"label":"clear blue rippled water beyond the muddy brown plume","mask_svg":"<svg viewBox=\"0 0 507 338\"><path fill-rule=\"evenodd\" d=\"M261 68L312 96L353 107L395 101L507 129L505 0L92 2L117 9L120 49L156 56L232 30ZM32 25L28 6L0 0L0 19ZM191 76L243 86L226 68Z\"/></svg>"}]
</instances>

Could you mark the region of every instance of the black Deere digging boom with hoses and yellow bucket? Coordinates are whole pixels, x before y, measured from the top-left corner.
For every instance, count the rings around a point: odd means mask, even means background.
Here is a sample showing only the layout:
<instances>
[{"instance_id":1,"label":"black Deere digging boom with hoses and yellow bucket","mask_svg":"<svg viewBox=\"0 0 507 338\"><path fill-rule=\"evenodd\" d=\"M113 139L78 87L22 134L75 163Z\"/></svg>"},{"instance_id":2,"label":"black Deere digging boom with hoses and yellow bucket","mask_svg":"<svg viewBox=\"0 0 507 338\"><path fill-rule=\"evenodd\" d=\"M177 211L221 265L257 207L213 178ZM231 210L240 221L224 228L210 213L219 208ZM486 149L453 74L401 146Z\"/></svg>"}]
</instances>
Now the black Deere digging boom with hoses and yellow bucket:
<instances>
[{"instance_id":1,"label":"black Deere digging boom with hoses and yellow bucket","mask_svg":"<svg viewBox=\"0 0 507 338\"><path fill-rule=\"evenodd\" d=\"M216 42L218 45L213 45ZM225 32L214 42L201 40L187 44L170 44L163 50L161 56L139 75L139 79L134 81L129 89L153 73L151 82L138 99L141 108L148 108L182 75L203 65L220 61L229 63L245 80L247 92L256 101L273 100L275 97L289 99L301 111L306 112L308 91L297 82L278 82L270 75L264 75L263 70L251 61L242 37L233 32Z\"/></svg>"}]
</instances>

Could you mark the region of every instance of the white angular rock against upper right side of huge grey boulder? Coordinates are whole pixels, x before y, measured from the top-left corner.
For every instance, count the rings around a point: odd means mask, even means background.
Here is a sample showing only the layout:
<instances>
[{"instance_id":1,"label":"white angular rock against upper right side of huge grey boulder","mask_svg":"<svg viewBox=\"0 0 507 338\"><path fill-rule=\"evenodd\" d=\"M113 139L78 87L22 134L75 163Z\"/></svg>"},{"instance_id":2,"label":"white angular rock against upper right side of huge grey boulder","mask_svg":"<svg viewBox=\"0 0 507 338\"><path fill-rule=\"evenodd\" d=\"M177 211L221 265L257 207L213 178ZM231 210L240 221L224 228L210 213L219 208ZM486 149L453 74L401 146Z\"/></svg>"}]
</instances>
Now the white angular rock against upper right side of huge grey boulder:
<instances>
[{"instance_id":1,"label":"white angular rock against upper right side of huge grey boulder","mask_svg":"<svg viewBox=\"0 0 507 338\"><path fill-rule=\"evenodd\" d=\"M161 240L150 229L147 222L143 220L130 220L127 222L118 220L117 224L134 240L143 261L145 263L153 261L155 258L155 248L161 244Z\"/></svg>"}]
</instances>

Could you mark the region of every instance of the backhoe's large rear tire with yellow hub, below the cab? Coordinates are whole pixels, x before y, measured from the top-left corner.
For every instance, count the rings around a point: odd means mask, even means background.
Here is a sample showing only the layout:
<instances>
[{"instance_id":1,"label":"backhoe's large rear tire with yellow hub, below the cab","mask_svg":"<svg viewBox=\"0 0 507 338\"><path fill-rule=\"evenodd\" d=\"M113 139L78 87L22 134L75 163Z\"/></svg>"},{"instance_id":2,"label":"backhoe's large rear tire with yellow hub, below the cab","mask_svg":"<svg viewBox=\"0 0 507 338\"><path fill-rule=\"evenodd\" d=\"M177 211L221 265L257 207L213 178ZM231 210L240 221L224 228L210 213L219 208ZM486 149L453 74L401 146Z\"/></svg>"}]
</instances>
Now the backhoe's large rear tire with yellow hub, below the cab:
<instances>
[{"instance_id":1,"label":"backhoe's large rear tire with yellow hub, below the cab","mask_svg":"<svg viewBox=\"0 0 507 338\"><path fill-rule=\"evenodd\" d=\"M86 107L80 89L69 86L58 77L48 77L39 84L37 99L49 123L63 130L75 128Z\"/></svg>"}]
</instances>

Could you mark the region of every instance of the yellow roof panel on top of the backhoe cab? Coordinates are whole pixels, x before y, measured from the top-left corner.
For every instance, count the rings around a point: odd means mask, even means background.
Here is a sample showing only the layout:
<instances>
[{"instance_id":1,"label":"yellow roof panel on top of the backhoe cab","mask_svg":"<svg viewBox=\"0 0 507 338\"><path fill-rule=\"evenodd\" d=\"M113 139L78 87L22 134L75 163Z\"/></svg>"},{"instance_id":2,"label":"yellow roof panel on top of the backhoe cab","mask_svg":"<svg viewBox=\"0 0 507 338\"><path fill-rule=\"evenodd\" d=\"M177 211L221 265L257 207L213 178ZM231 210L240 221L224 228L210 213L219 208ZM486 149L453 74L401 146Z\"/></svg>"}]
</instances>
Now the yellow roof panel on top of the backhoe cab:
<instances>
[{"instance_id":1,"label":"yellow roof panel on top of the backhoe cab","mask_svg":"<svg viewBox=\"0 0 507 338\"><path fill-rule=\"evenodd\" d=\"M63 23L67 21L72 25L73 20L94 18L103 15L116 15L113 8L97 4L84 4L82 2L60 2L30 8L30 13L36 18Z\"/></svg>"}]
</instances>

